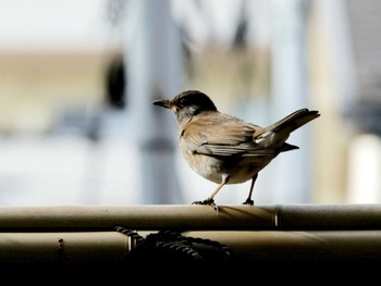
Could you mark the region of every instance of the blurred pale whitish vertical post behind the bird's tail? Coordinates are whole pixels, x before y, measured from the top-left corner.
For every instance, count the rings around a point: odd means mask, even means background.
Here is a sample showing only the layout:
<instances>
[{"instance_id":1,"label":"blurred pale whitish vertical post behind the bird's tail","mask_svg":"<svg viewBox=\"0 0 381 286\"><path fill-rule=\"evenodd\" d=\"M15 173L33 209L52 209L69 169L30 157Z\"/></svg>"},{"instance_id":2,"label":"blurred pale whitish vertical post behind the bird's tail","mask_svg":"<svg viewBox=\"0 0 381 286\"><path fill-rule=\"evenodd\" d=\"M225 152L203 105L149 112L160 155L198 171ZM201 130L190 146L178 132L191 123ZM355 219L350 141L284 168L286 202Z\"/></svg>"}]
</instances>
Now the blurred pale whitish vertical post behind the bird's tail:
<instances>
[{"instance_id":1,"label":"blurred pale whitish vertical post behind the bird's tail","mask_svg":"<svg viewBox=\"0 0 381 286\"><path fill-rule=\"evenodd\" d=\"M308 1L307 1L308 2ZM273 0L272 34L272 121L307 105L304 0ZM300 147L282 153L273 164L273 191L280 202L308 202L308 127L295 130L288 141ZM295 153L297 152L297 153Z\"/></svg>"}]
</instances>

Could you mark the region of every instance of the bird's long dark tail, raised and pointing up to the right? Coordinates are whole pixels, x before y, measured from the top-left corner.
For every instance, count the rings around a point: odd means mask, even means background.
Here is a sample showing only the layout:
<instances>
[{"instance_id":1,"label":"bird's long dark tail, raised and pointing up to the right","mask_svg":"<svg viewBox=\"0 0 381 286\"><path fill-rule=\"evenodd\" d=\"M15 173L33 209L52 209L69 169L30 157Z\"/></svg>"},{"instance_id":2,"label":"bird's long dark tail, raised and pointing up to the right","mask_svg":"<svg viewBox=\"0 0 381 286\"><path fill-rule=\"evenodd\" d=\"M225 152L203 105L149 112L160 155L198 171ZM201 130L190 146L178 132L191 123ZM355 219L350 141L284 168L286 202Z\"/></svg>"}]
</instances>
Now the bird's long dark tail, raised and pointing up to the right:
<instances>
[{"instance_id":1,"label":"bird's long dark tail, raised and pointing up to the right","mask_svg":"<svg viewBox=\"0 0 381 286\"><path fill-rule=\"evenodd\" d=\"M315 120L319 116L320 116L319 111L316 111L316 110L310 111L308 109L300 109L300 110L297 110L297 111L291 113L288 116L274 123L273 125L269 126L267 129L271 129L275 133L287 129L290 133L292 133L293 130L302 127L306 123L308 123L311 120Z\"/></svg>"}]
</instances>

